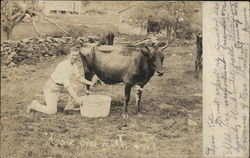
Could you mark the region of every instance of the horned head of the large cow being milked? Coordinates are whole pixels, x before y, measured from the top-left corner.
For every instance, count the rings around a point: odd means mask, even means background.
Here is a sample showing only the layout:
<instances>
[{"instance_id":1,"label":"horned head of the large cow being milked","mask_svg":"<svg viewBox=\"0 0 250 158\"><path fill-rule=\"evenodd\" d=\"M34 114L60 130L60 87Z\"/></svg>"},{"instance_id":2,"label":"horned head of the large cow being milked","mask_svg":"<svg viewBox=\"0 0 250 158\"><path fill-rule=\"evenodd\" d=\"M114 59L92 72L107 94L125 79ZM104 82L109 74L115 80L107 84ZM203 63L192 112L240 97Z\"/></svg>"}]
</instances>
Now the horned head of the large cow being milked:
<instances>
[{"instance_id":1,"label":"horned head of the large cow being milked","mask_svg":"<svg viewBox=\"0 0 250 158\"><path fill-rule=\"evenodd\" d=\"M162 76L164 74L163 61L164 54L163 50L167 48L167 45L163 46L155 46L149 45L145 48L142 48L142 53L148 57L151 68L154 72L157 72L158 76Z\"/></svg>"}]
</instances>

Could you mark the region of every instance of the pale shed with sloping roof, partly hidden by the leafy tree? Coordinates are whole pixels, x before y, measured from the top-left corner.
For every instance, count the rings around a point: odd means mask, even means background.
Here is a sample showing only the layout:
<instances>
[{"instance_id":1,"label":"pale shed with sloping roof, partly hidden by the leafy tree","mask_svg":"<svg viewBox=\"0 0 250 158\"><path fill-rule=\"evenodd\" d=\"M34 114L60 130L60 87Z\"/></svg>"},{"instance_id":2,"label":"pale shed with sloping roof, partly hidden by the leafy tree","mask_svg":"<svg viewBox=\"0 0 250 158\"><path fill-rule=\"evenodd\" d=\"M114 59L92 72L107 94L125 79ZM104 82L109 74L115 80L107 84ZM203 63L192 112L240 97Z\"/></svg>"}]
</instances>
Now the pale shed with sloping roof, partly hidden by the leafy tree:
<instances>
[{"instance_id":1,"label":"pale shed with sloping roof, partly hidden by the leafy tree","mask_svg":"<svg viewBox=\"0 0 250 158\"><path fill-rule=\"evenodd\" d=\"M131 15L137 9L136 5L131 5L121 11L119 11L120 21L119 21L119 28L118 31L120 33L125 34L132 34L132 35L146 35L147 34L147 24L148 22L145 21L144 26L134 26L131 25Z\"/></svg>"}]
</instances>

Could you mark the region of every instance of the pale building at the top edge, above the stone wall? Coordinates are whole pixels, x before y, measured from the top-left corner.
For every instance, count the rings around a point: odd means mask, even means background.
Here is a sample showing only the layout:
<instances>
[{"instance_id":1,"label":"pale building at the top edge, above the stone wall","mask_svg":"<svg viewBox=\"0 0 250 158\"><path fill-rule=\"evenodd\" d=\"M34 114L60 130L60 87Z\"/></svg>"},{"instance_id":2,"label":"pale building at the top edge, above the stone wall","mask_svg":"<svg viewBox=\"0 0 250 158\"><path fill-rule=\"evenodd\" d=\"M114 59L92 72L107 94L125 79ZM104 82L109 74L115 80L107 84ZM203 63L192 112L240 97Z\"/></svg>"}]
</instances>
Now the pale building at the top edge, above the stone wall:
<instances>
[{"instance_id":1,"label":"pale building at the top edge, above the stone wall","mask_svg":"<svg viewBox=\"0 0 250 158\"><path fill-rule=\"evenodd\" d=\"M44 14L81 13L81 1L39 1Z\"/></svg>"}]
</instances>

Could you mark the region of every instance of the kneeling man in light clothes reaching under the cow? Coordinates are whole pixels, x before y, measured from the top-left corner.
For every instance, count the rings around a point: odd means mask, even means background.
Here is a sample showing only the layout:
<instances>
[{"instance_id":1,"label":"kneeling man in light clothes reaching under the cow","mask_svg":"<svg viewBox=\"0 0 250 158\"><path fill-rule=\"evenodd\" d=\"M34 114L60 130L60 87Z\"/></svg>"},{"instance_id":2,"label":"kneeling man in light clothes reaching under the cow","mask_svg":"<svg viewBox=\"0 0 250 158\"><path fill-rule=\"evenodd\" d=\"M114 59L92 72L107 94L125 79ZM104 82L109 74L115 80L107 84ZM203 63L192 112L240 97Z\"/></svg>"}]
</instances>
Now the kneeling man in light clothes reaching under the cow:
<instances>
[{"instance_id":1,"label":"kneeling man in light clothes reaching under the cow","mask_svg":"<svg viewBox=\"0 0 250 158\"><path fill-rule=\"evenodd\" d=\"M73 84L72 80L77 80L86 85L94 85L94 82L86 80L85 77L82 77L79 73L76 65L76 61L79 58L79 49L72 47L69 52L68 59L58 64L43 87L46 105L42 105L37 100L33 100L27 107L27 112L34 110L46 114L56 114L58 97L63 88L67 89L70 95L68 104L64 110L72 110L75 106L81 104L81 100L77 96L79 86Z\"/></svg>"}]
</instances>

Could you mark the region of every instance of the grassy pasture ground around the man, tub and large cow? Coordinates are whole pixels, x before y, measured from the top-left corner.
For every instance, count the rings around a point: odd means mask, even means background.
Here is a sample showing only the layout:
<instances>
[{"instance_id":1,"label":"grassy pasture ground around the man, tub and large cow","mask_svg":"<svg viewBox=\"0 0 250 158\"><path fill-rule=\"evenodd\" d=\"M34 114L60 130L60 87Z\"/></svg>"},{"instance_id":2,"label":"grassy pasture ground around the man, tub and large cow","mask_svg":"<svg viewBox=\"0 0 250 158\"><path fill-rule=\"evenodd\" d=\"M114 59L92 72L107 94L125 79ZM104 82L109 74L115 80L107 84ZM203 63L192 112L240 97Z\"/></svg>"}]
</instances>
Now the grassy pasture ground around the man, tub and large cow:
<instances>
[{"instance_id":1,"label":"grassy pasture ground around the man, tub and large cow","mask_svg":"<svg viewBox=\"0 0 250 158\"><path fill-rule=\"evenodd\" d=\"M145 112L141 117L133 114L132 92L127 127L121 126L122 85L93 89L112 97L107 118L64 113L65 93L60 97L57 115L25 113L36 94L41 94L49 74L65 57L37 65L2 67L1 157L201 157L202 84L193 79L192 54L192 47L168 48L166 75L153 77L145 87ZM188 118L197 125L188 125Z\"/></svg>"}]
</instances>

